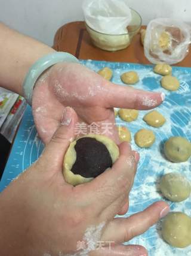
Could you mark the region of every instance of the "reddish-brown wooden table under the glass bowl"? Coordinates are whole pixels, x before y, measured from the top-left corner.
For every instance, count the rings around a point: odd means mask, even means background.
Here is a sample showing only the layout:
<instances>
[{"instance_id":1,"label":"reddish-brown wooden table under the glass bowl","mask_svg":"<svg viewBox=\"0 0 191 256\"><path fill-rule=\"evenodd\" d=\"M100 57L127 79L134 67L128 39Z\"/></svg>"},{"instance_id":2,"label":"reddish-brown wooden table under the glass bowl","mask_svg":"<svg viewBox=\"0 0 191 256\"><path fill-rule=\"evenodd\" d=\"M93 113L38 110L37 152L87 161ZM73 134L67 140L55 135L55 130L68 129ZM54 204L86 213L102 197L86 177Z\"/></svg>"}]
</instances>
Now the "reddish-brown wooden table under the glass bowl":
<instances>
[{"instance_id":1,"label":"reddish-brown wooden table under the glass bowl","mask_svg":"<svg viewBox=\"0 0 191 256\"><path fill-rule=\"evenodd\" d=\"M140 34L137 34L127 49L116 52L107 52L93 46L90 36L85 29L84 22L71 22L62 26L54 37L54 49L69 52L78 59L94 59L97 61L134 62L150 64L144 56L143 46L140 43ZM186 58L176 64L181 67L191 67L191 49Z\"/></svg>"}]
</instances>

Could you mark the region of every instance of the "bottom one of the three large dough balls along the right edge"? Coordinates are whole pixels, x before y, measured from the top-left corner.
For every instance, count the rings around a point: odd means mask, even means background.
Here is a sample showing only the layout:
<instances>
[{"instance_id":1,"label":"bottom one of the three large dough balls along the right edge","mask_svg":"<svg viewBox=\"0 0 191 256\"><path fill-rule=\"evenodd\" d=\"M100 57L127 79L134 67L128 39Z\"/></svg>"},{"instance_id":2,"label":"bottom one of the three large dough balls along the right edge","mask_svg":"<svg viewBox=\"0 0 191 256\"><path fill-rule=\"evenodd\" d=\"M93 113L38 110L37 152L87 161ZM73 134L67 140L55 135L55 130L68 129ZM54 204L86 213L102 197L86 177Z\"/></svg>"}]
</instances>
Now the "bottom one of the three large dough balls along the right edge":
<instances>
[{"instance_id":1,"label":"bottom one of the three large dough balls along the right edge","mask_svg":"<svg viewBox=\"0 0 191 256\"><path fill-rule=\"evenodd\" d=\"M191 244L191 218L183 212L171 212L162 222L162 237L170 245L184 248Z\"/></svg>"}]
</instances>

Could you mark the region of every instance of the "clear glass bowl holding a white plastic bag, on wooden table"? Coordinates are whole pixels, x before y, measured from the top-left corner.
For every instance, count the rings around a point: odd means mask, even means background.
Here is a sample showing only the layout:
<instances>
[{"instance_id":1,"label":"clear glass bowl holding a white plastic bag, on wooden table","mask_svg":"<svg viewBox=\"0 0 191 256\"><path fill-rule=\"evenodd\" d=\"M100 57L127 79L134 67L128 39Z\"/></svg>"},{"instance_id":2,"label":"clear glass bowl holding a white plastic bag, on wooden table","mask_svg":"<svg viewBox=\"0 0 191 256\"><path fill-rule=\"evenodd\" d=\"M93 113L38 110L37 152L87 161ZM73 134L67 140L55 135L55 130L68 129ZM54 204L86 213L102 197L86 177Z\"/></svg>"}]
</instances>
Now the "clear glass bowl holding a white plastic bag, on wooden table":
<instances>
[{"instance_id":1,"label":"clear glass bowl holding a white plastic bag, on wooden table","mask_svg":"<svg viewBox=\"0 0 191 256\"><path fill-rule=\"evenodd\" d=\"M131 15L132 20L130 25L127 26L127 33L120 35L109 35L98 32L90 28L90 26L85 22L85 26L90 34L90 38L94 46L107 51L122 50L128 47L134 35L138 33L142 23L141 16L137 11L131 9Z\"/></svg>"}]
</instances>

